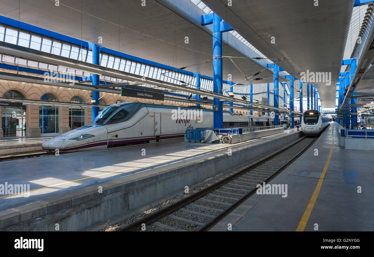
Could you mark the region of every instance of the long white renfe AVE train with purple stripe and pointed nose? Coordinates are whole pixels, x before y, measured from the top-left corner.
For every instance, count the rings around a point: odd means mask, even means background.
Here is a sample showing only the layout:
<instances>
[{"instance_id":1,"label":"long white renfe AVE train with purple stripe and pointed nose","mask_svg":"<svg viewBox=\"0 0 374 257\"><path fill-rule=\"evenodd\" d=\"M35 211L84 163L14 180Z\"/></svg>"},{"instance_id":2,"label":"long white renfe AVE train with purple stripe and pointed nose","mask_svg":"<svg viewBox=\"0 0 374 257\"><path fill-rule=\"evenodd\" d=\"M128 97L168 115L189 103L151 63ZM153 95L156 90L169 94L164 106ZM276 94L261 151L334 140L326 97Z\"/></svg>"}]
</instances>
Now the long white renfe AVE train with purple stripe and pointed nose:
<instances>
[{"instance_id":1,"label":"long white renfe AVE train with purple stripe and pointed nose","mask_svg":"<svg viewBox=\"0 0 374 257\"><path fill-rule=\"evenodd\" d=\"M224 127L265 126L272 117L233 115L223 112ZM153 103L127 102L102 110L92 124L58 136L42 144L46 152L77 152L105 149L129 143L184 137L186 129L213 127L213 110Z\"/></svg>"}]
</instances>

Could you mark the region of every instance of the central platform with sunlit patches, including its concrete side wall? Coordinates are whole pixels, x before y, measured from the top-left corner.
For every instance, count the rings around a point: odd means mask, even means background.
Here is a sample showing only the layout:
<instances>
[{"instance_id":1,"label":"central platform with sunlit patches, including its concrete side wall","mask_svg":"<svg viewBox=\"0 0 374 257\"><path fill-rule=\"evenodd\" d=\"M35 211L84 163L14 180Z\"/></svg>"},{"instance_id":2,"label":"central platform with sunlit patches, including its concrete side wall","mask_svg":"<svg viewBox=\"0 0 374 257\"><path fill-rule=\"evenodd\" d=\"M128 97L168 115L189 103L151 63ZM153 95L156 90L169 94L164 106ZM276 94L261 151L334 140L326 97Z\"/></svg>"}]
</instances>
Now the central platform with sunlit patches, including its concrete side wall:
<instances>
[{"instance_id":1,"label":"central platform with sunlit patches, including its concrete side wall","mask_svg":"<svg viewBox=\"0 0 374 257\"><path fill-rule=\"evenodd\" d=\"M0 184L28 184L30 196L0 195L0 230L12 224L15 226L9 230L21 230L22 220L30 222L35 217L45 217L50 222L54 214L58 219L61 212L75 217L74 222L69 221L75 226L70 229L77 230L82 222L90 225L77 218L77 205L90 202L79 210L82 219L104 212L112 217L119 211L131 210L176 191L180 193L184 186L233 170L301 136L301 131L291 129L233 145L187 143L180 139L3 161ZM232 156L227 154L228 149ZM27 215L22 217L24 213ZM97 222L92 220L91 225ZM33 226L28 223L23 228ZM48 230L37 227L40 229Z\"/></svg>"}]
</instances>

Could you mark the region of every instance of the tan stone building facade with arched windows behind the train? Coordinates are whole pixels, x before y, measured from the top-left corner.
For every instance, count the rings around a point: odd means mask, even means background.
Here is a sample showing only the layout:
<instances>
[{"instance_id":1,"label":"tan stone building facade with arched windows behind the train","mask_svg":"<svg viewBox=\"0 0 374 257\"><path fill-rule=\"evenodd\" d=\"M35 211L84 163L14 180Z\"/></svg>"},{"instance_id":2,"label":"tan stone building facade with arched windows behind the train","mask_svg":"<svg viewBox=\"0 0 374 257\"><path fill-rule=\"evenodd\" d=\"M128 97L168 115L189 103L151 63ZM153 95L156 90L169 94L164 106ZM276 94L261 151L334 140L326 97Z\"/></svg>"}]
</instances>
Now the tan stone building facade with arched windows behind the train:
<instances>
[{"instance_id":1,"label":"tan stone building facade with arched windows behind the train","mask_svg":"<svg viewBox=\"0 0 374 257\"><path fill-rule=\"evenodd\" d=\"M80 99L84 103L91 103L91 97L89 96L89 90L72 89L65 87L46 86L33 83L24 83L17 81L0 80L0 97L19 97L25 99L40 100L51 100L54 99L59 102L71 102L74 99ZM105 95L104 95L105 94ZM103 96L104 95L104 96ZM140 99L135 97L125 97L112 93L100 92L102 104L112 105L119 102L148 102L148 103L159 103L165 105L176 105L176 106L188 106L191 103L175 102L175 101L158 101ZM46 99L45 97L48 97ZM51 98L52 97L52 98ZM211 106L203 106L205 108L212 108ZM55 108L55 109L54 109ZM226 110L229 110L225 108ZM74 111L76 110L76 111ZM78 118L73 117L73 113L82 113ZM241 114L249 114L249 111L241 109L234 109L234 112ZM11 113L16 113L15 117ZM52 113L52 115L50 115ZM54 114L53 114L54 113ZM257 112L254 112L256 115ZM47 114L47 115L44 115ZM61 134L66 131L74 129L76 126L84 126L91 124L92 122L92 110L91 108L71 108L67 106L40 106L40 105L23 105L23 108L12 109L0 107L0 138L4 136L25 136L25 137L40 137L40 136L54 136ZM13 118L13 120L12 120ZM49 124L55 124L55 128L46 128L44 126L48 120ZM14 121L14 122L11 122ZM73 121L78 121L74 123ZM11 124L11 126L9 125ZM10 129L12 127L12 129ZM9 132L15 131L16 132Z\"/></svg>"}]
</instances>

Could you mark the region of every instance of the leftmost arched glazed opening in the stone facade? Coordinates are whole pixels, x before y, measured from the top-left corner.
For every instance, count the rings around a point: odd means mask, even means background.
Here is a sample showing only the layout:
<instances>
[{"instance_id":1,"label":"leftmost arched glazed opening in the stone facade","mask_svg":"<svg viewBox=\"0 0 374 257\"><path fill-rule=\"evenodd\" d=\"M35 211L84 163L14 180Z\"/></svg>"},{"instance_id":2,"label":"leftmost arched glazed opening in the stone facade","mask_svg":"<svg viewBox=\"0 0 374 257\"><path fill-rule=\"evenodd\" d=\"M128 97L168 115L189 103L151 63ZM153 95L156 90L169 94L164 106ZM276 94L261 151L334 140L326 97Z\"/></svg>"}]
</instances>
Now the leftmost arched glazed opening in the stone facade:
<instances>
[{"instance_id":1,"label":"leftmost arched glazed opening in the stone facade","mask_svg":"<svg viewBox=\"0 0 374 257\"><path fill-rule=\"evenodd\" d=\"M25 99L25 96L18 90L9 90L3 97ZM3 106L1 108L3 137L26 136L26 105L22 105L22 103L14 104L12 107Z\"/></svg>"}]
</instances>

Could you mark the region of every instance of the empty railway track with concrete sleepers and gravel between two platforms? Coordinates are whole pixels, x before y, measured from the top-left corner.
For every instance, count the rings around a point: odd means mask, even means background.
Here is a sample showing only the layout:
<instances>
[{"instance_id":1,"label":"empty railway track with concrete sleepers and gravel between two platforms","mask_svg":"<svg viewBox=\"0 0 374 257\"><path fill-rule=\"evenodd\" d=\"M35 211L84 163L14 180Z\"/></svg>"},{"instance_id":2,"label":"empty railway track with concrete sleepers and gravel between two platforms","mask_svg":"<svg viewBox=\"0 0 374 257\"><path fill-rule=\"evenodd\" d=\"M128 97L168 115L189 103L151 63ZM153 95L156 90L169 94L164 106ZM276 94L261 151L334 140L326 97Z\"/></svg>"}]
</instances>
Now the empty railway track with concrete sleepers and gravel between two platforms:
<instances>
[{"instance_id":1,"label":"empty railway track with concrete sleepers and gravel between two platforms","mask_svg":"<svg viewBox=\"0 0 374 257\"><path fill-rule=\"evenodd\" d=\"M207 231L268 183L308 149L318 137L297 142L217 183L191 194L118 231ZM142 229L143 228L143 229Z\"/></svg>"}]
</instances>

